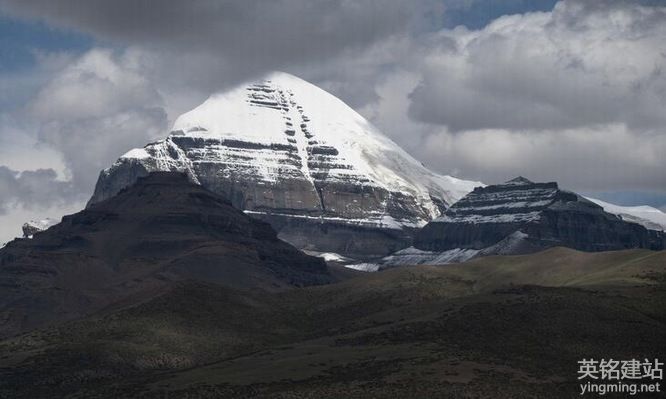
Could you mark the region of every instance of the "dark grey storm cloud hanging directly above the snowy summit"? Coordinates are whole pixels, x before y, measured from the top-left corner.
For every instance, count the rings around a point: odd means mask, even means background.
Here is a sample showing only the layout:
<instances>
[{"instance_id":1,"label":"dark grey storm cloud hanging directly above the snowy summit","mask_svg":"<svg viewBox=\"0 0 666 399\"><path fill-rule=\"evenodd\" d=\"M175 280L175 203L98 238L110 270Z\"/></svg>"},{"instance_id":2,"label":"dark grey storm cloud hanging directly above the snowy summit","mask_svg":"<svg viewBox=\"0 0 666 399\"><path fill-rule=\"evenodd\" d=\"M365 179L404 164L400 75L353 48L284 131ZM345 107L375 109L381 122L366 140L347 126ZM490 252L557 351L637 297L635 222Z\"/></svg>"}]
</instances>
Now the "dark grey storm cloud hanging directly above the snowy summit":
<instances>
[{"instance_id":1,"label":"dark grey storm cloud hanging directly above the snowy summit","mask_svg":"<svg viewBox=\"0 0 666 399\"><path fill-rule=\"evenodd\" d=\"M404 32L417 8L399 0L2 0L14 15L159 54L190 84L321 63Z\"/></svg>"}]
</instances>

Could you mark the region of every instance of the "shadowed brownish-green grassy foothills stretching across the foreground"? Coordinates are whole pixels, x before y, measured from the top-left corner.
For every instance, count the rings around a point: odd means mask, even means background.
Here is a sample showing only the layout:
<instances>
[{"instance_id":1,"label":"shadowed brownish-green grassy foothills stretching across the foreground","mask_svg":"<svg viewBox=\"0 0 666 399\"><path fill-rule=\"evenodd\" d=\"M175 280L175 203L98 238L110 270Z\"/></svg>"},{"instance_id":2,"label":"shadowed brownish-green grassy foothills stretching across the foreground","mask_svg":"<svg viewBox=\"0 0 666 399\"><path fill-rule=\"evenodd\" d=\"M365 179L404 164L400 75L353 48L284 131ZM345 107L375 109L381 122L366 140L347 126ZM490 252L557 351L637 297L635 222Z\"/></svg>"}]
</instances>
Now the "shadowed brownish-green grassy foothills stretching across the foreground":
<instances>
[{"instance_id":1,"label":"shadowed brownish-green grassy foothills stretching across the foreground","mask_svg":"<svg viewBox=\"0 0 666 399\"><path fill-rule=\"evenodd\" d=\"M573 398L582 358L666 358L663 251L343 274L272 292L181 281L0 341L0 397Z\"/></svg>"}]
</instances>

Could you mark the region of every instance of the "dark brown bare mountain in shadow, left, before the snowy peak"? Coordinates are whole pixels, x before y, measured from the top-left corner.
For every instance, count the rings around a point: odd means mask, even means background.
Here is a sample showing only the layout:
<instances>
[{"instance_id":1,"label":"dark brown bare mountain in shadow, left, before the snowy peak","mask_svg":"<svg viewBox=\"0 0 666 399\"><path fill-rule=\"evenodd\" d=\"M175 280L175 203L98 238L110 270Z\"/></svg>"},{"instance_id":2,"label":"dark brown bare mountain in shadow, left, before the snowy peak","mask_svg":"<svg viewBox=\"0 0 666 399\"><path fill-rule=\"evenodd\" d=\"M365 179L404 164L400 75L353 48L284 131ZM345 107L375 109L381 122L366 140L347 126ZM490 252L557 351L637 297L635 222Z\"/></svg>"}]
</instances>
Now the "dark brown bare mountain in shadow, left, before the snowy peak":
<instances>
[{"instance_id":1,"label":"dark brown bare mountain in shadow, left, before the snowy peak","mask_svg":"<svg viewBox=\"0 0 666 399\"><path fill-rule=\"evenodd\" d=\"M276 290L330 277L322 260L184 174L153 173L0 250L0 336L149 298L181 280Z\"/></svg>"}]
</instances>

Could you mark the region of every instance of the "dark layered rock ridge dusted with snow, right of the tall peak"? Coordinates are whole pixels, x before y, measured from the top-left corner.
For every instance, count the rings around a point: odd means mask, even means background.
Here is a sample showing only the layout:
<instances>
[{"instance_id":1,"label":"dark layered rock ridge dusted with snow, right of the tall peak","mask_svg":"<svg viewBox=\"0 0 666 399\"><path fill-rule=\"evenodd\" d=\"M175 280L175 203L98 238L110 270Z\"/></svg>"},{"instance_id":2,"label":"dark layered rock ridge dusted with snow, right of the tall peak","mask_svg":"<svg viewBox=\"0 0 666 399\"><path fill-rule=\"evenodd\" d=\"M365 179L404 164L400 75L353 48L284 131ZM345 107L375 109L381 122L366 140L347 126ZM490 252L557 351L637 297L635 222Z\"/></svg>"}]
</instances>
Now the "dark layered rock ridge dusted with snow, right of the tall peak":
<instances>
[{"instance_id":1,"label":"dark layered rock ridge dusted with snow, right of the tall peak","mask_svg":"<svg viewBox=\"0 0 666 399\"><path fill-rule=\"evenodd\" d=\"M565 246L582 251L664 248L664 234L628 223L557 183L516 178L478 187L426 225L415 247L517 254Z\"/></svg>"}]
</instances>

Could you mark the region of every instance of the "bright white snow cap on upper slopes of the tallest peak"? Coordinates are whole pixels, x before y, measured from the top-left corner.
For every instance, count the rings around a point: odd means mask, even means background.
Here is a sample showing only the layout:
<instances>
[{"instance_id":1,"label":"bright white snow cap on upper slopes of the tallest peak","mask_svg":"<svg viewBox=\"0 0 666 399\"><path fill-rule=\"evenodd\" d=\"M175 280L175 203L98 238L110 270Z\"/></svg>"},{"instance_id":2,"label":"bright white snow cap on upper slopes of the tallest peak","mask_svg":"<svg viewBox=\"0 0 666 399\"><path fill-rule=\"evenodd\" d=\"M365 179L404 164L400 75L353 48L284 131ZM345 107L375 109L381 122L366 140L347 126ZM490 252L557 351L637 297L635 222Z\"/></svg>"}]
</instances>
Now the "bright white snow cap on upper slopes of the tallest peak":
<instances>
[{"instance_id":1,"label":"bright white snow cap on upper slopes of the tallest peak","mask_svg":"<svg viewBox=\"0 0 666 399\"><path fill-rule=\"evenodd\" d=\"M328 179L370 177L367 184L421 197L431 217L439 210L428 204L430 190L443 188L439 194L451 204L481 184L432 173L343 101L284 72L212 95L181 115L171 134L295 146L305 159L334 156ZM316 179L320 170L311 166L303 162L301 171ZM274 180L278 170L266 164L264 177Z\"/></svg>"}]
</instances>

